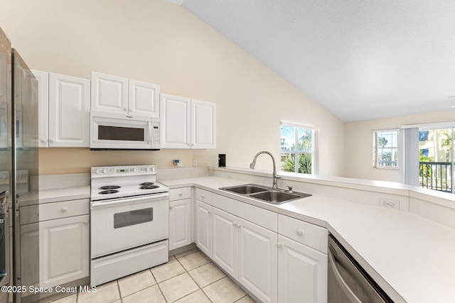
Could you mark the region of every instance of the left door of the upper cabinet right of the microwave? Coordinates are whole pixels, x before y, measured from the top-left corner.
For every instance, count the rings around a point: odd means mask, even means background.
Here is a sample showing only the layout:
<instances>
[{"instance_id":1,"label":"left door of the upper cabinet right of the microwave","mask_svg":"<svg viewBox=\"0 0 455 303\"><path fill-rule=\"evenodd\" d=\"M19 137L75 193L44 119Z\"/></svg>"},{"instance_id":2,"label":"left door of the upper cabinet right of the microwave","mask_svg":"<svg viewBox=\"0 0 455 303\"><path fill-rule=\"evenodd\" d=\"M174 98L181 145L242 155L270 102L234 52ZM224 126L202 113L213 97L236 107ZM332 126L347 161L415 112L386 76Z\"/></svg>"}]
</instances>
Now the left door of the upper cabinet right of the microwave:
<instances>
[{"instance_id":1,"label":"left door of the upper cabinet right of the microwave","mask_svg":"<svg viewBox=\"0 0 455 303\"><path fill-rule=\"evenodd\" d=\"M160 95L161 148L191 148L191 99Z\"/></svg>"}]
</instances>

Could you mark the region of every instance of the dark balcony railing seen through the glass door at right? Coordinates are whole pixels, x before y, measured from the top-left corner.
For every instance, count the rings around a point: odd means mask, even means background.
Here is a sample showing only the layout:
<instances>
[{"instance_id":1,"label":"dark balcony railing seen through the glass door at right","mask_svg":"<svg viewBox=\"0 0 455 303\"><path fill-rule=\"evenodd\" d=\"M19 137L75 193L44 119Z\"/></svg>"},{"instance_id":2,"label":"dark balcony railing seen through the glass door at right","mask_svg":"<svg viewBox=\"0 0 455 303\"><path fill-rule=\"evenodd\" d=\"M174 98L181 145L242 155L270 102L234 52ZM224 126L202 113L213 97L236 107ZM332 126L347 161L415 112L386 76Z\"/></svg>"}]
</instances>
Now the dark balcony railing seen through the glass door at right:
<instances>
[{"instance_id":1,"label":"dark balcony railing seen through the glass door at right","mask_svg":"<svg viewBox=\"0 0 455 303\"><path fill-rule=\"evenodd\" d=\"M451 162L419 162L420 187L452 192Z\"/></svg>"}]
</instances>

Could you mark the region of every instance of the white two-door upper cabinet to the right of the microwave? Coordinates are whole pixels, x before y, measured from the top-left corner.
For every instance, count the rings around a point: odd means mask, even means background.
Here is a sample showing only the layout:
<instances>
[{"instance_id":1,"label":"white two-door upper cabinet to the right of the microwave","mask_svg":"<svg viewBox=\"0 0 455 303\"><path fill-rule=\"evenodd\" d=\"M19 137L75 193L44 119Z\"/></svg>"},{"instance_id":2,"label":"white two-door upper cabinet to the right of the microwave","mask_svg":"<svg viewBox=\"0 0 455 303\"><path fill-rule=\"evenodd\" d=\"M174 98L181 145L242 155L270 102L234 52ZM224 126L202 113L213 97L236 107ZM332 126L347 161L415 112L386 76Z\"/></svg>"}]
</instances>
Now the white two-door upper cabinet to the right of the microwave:
<instances>
[{"instance_id":1,"label":"white two-door upper cabinet to the right of the microwave","mask_svg":"<svg viewBox=\"0 0 455 303\"><path fill-rule=\"evenodd\" d=\"M216 148L216 104L161 94L161 148Z\"/></svg>"}]
</instances>

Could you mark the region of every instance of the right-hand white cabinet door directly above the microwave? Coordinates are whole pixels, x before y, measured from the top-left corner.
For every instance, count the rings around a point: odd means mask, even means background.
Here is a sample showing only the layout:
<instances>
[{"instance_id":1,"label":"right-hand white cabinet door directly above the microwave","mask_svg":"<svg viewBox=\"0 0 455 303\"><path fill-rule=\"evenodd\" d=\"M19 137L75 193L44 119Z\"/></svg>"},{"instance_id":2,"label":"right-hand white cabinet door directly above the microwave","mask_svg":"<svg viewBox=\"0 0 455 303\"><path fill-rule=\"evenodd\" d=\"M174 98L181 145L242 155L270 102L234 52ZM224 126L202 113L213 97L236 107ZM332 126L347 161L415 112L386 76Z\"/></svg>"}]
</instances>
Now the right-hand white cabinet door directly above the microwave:
<instances>
[{"instance_id":1,"label":"right-hand white cabinet door directly above the microwave","mask_svg":"<svg viewBox=\"0 0 455 303\"><path fill-rule=\"evenodd\" d=\"M129 115L159 117L159 85L129 80Z\"/></svg>"}]
</instances>

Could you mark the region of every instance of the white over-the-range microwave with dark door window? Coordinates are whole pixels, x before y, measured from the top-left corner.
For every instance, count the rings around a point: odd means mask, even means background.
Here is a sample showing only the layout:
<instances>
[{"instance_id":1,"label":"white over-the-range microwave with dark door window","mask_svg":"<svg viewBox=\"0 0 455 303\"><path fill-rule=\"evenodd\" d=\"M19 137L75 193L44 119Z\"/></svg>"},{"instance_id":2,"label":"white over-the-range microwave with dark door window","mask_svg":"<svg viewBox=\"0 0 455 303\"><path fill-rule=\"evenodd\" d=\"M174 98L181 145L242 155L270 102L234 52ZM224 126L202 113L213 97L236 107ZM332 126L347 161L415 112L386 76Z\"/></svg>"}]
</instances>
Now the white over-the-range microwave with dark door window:
<instances>
[{"instance_id":1,"label":"white over-the-range microwave with dark door window","mask_svg":"<svg viewBox=\"0 0 455 303\"><path fill-rule=\"evenodd\" d=\"M159 150L160 119L90 111L91 150Z\"/></svg>"}]
</instances>

